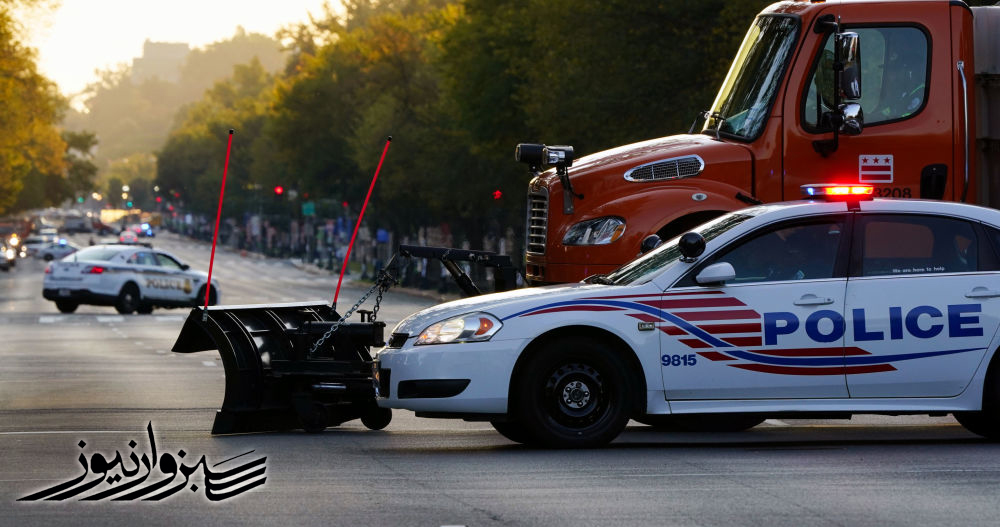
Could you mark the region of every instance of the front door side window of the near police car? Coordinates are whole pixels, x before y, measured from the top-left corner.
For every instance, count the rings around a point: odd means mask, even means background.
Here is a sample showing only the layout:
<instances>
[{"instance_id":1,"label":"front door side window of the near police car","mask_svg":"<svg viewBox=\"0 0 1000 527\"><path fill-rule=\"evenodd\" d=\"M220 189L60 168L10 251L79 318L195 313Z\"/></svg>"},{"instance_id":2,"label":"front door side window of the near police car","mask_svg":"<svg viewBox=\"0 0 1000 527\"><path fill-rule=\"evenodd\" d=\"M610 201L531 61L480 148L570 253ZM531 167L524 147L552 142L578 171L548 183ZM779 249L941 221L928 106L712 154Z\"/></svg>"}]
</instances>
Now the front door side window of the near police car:
<instances>
[{"instance_id":1,"label":"front door side window of the near police car","mask_svg":"<svg viewBox=\"0 0 1000 527\"><path fill-rule=\"evenodd\" d=\"M713 255L678 285L696 285L697 273L717 262L736 271L727 284L834 278L845 222L836 216L765 227Z\"/></svg>"}]
</instances>

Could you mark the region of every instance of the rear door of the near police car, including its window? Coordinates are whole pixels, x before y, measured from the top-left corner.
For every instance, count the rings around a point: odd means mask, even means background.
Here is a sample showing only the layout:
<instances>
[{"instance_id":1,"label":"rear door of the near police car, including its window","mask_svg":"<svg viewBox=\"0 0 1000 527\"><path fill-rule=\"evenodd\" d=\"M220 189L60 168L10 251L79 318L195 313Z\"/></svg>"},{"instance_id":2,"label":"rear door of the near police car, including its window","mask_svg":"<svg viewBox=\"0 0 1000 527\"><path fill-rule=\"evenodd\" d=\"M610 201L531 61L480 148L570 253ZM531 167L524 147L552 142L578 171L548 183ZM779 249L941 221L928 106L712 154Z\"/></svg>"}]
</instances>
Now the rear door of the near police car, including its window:
<instances>
[{"instance_id":1,"label":"rear door of the near police car, including its window","mask_svg":"<svg viewBox=\"0 0 1000 527\"><path fill-rule=\"evenodd\" d=\"M851 397L965 390L1000 324L1000 278L983 272L996 266L985 232L948 217L858 216L846 345L866 354L846 358Z\"/></svg>"}]
</instances>

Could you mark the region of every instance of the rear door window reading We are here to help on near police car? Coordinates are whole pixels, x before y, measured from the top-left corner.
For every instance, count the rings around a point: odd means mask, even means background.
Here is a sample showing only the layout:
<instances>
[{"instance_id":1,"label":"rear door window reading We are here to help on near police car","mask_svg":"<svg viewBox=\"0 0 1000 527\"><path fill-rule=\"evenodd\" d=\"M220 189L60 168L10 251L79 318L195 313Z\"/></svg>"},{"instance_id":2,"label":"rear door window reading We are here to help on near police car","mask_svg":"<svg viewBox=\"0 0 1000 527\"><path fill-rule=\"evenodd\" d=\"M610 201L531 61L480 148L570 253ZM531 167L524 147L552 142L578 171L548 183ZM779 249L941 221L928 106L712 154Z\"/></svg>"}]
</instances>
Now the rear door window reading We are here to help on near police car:
<instances>
[{"instance_id":1,"label":"rear door window reading We are here to help on near police car","mask_svg":"<svg viewBox=\"0 0 1000 527\"><path fill-rule=\"evenodd\" d=\"M972 224L939 216L859 218L860 276L961 273L979 270Z\"/></svg>"}]
</instances>

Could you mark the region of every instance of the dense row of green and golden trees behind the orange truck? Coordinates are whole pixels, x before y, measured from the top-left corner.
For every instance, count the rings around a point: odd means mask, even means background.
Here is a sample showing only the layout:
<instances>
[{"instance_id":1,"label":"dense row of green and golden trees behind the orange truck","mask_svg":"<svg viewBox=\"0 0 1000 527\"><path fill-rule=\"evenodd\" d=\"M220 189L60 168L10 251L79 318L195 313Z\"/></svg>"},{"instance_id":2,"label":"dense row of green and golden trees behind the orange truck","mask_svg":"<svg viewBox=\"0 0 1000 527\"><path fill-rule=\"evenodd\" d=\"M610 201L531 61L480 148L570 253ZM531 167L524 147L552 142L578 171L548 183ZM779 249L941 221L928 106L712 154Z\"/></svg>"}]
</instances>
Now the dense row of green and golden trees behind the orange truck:
<instances>
[{"instance_id":1,"label":"dense row of green and golden trees behind the orange truck","mask_svg":"<svg viewBox=\"0 0 1000 527\"><path fill-rule=\"evenodd\" d=\"M520 235L516 143L582 155L685 131L768 3L350 0L279 34L283 73L235 70L185 110L157 183L214 213L236 128L227 211L261 208L280 184L332 213L324 203L361 202L393 135L369 223L403 235L447 223L474 246L508 226ZM292 201L263 208L289 217Z\"/></svg>"}]
</instances>

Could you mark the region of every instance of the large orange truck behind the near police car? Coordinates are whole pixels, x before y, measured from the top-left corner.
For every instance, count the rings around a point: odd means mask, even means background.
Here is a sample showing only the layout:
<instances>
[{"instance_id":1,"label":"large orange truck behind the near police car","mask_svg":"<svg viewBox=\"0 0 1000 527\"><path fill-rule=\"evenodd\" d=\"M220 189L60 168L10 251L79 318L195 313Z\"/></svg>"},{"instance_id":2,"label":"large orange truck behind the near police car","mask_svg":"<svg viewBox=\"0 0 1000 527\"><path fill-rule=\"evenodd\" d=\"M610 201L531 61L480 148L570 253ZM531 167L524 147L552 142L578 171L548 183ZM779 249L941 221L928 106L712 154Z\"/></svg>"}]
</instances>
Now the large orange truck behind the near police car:
<instances>
[{"instance_id":1,"label":"large orange truck behind the near police car","mask_svg":"<svg viewBox=\"0 0 1000 527\"><path fill-rule=\"evenodd\" d=\"M647 239L807 183L1000 205L1000 7L958 0L784 1L750 26L700 131L531 166L532 284L609 272ZM544 172L543 172L544 170Z\"/></svg>"}]
</instances>

